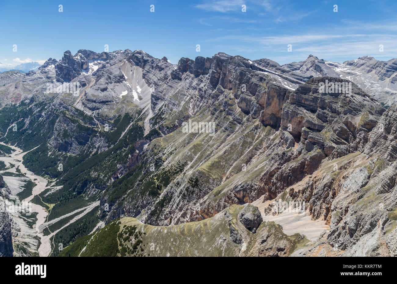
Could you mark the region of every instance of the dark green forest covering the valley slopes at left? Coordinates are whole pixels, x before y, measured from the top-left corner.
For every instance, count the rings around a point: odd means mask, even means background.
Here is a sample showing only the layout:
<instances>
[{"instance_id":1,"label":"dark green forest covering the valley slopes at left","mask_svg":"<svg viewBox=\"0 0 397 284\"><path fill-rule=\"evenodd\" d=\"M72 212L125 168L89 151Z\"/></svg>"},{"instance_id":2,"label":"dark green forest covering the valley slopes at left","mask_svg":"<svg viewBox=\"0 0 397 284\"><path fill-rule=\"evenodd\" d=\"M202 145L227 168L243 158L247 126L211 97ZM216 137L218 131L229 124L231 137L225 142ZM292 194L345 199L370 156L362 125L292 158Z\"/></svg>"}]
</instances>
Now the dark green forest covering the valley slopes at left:
<instances>
[{"instance_id":1,"label":"dark green forest covering the valley slopes at left","mask_svg":"<svg viewBox=\"0 0 397 284\"><path fill-rule=\"evenodd\" d=\"M108 123L109 131L102 131L91 117L73 107L54 108L53 99L23 101L18 105L11 104L0 110L0 135L6 137L0 141L31 150L24 156L24 164L29 170L48 179L56 180L56 186L62 185L47 196L49 189L35 196L34 203L44 207L50 214L48 220L58 218L76 209L87 206L98 200L99 193L108 187L110 177L117 172L118 164L125 164L128 156L135 152L134 144L143 137L143 128L139 121L134 123L123 137L121 134L140 113L125 114L116 118L102 118ZM59 111L60 110L60 111ZM16 125L14 128L13 124ZM60 126L66 126L66 128ZM14 131L14 129L16 131ZM56 144L51 144L56 137ZM99 151L96 139L103 141L108 149ZM71 145L79 147L78 155L71 155ZM11 148L0 145L0 155L8 155ZM59 165L62 164L62 171ZM6 168L0 164L0 168ZM4 173L9 176L24 175ZM117 181L117 180L116 180ZM34 184L27 182L24 190L18 194L20 199L31 195ZM87 194L89 193L89 194ZM68 244L93 230L98 223L98 207L77 222L62 229L54 236L56 243ZM49 234L61 228L73 216L60 220L50 226L44 233ZM56 255L56 248L53 255Z\"/></svg>"}]
</instances>

